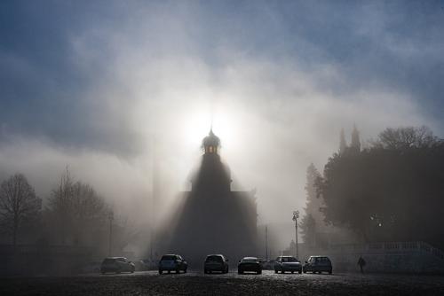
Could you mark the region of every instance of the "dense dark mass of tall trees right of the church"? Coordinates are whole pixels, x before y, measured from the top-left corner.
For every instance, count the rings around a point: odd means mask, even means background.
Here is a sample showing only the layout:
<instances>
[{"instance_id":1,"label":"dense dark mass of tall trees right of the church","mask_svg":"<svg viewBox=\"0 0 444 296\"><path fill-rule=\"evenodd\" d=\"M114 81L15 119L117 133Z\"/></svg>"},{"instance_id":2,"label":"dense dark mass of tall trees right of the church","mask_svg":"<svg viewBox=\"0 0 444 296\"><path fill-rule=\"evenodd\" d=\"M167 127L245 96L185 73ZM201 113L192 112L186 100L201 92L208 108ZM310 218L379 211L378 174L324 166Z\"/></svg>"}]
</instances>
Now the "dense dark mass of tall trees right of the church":
<instances>
[{"instance_id":1,"label":"dense dark mass of tall trees right of the church","mask_svg":"<svg viewBox=\"0 0 444 296\"><path fill-rule=\"evenodd\" d=\"M407 127L385 129L362 150L357 141L355 134L346 146L342 134L323 174L308 170L305 241L316 231L314 212L321 224L351 230L362 242L421 240L443 248L443 139Z\"/></svg>"}]
</instances>

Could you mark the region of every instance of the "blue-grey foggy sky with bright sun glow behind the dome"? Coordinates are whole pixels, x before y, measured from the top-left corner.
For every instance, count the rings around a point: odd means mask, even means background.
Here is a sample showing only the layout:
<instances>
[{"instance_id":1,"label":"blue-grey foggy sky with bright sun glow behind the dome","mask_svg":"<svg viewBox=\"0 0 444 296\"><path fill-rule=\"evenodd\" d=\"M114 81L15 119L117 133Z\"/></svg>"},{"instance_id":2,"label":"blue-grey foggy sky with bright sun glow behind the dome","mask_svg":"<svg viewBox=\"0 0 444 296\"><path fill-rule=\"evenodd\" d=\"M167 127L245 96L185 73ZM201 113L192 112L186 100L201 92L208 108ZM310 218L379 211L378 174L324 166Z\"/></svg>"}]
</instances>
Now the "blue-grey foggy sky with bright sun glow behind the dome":
<instances>
[{"instance_id":1,"label":"blue-grey foggy sky with bright sun glow behind the dome","mask_svg":"<svg viewBox=\"0 0 444 296\"><path fill-rule=\"evenodd\" d=\"M386 127L444 136L444 5L352 1L0 4L0 178L46 197L65 166L107 199L186 190L210 129L259 222L305 206L305 168ZM288 218L288 219L287 219Z\"/></svg>"}]
</instances>

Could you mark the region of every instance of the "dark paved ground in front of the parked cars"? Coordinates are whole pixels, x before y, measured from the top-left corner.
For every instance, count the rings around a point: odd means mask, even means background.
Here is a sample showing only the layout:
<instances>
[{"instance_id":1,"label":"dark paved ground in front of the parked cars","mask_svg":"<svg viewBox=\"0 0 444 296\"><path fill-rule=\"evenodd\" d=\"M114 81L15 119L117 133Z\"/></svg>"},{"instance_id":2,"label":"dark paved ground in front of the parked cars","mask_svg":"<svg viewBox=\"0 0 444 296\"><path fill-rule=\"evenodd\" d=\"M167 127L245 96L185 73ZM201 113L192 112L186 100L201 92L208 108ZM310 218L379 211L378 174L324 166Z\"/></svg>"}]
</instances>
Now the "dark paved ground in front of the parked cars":
<instances>
[{"instance_id":1,"label":"dark paved ground in front of the parked cars","mask_svg":"<svg viewBox=\"0 0 444 296\"><path fill-rule=\"evenodd\" d=\"M361 274L134 274L0 279L0 295L444 295L444 277Z\"/></svg>"}]
</instances>

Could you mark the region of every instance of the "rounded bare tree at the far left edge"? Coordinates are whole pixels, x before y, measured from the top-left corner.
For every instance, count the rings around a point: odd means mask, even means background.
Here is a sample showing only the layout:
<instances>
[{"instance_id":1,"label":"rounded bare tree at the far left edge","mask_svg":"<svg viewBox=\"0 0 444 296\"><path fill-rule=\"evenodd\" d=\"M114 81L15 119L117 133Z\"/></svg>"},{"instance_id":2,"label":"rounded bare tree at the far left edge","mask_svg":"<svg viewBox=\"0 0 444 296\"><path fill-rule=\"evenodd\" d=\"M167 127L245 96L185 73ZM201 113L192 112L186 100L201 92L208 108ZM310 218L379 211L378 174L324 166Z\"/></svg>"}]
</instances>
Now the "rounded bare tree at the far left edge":
<instances>
[{"instance_id":1,"label":"rounded bare tree at the far left edge","mask_svg":"<svg viewBox=\"0 0 444 296\"><path fill-rule=\"evenodd\" d=\"M42 208L42 199L36 197L34 188L24 175L12 175L0 186L0 219L4 230L12 234L12 244L17 244L23 222L32 221Z\"/></svg>"}]
</instances>

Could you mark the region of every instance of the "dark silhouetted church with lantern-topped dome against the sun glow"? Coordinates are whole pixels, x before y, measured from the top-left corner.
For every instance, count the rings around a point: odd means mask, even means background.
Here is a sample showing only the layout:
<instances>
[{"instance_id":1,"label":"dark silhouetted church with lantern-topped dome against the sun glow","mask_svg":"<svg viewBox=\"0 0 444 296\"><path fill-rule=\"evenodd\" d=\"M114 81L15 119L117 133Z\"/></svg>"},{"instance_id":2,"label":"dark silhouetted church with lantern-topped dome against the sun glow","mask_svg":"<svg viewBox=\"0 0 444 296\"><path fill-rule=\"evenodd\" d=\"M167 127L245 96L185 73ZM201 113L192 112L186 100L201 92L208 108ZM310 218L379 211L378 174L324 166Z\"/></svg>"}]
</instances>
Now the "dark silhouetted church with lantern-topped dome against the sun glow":
<instances>
[{"instance_id":1,"label":"dark silhouetted church with lantern-topped dome against the sun glow","mask_svg":"<svg viewBox=\"0 0 444 296\"><path fill-rule=\"evenodd\" d=\"M182 206L171 224L168 252L180 253L194 265L210 253L223 253L232 262L257 253L255 191L231 190L230 170L219 149L211 129L202 140L202 162L191 178L191 191L182 192Z\"/></svg>"}]
</instances>

